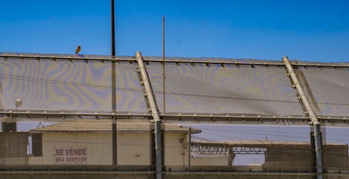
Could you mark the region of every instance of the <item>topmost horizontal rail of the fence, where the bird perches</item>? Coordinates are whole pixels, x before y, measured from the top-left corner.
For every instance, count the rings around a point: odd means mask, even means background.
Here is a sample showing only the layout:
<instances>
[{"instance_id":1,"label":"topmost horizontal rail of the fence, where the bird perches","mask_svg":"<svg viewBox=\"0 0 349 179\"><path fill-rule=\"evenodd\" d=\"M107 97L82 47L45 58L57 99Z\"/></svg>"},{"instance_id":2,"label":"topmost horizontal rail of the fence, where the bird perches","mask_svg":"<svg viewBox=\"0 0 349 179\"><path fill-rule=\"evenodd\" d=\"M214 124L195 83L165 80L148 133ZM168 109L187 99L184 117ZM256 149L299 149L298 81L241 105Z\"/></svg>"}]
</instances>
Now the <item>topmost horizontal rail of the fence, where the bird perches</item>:
<instances>
[{"instance_id":1,"label":"topmost horizontal rail of the fence, where the bird perches","mask_svg":"<svg viewBox=\"0 0 349 179\"><path fill-rule=\"evenodd\" d=\"M68 61L116 61L116 62L137 62L135 57L131 56L116 56L115 58L109 55L60 55L60 54L34 54L34 53L0 53L0 58L3 60L10 60L10 58L18 58L21 60L34 59L40 61L41 59L51 59L53 61L57 59L63 59ZM284 67L282 61L271 61L271 60L258 60L258 59L220 59L220 58L194 58L194 57L166 57L166 59L161 59L161 57L144 57L144 62L148 63L159 63L159 64L205 64L209 65L234 65L234 66L269 66L274 67ZM349 63L318 63L318 62L307 62L307 61L297 61L292 62L292 66L297 66L300 68L349 68Z\"/></svg>"}]
</instances>

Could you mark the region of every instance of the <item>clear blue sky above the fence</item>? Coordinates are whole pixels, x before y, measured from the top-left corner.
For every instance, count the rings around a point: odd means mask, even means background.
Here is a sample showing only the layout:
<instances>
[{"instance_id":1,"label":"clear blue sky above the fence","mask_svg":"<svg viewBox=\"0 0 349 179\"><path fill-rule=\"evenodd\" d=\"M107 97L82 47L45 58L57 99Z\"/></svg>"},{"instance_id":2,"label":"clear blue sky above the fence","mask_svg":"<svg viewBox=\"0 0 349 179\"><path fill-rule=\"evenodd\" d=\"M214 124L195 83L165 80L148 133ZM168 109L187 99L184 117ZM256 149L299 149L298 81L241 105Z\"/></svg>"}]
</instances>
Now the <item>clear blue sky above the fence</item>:
<instances>
[{"instance_id":1,"label":"clear blue sky above the fence","mask_svg":"<svg viewBox=\"0 0 349 179\"><path fill-rule=\"evenodd\" d=\"M349 1L121 1L116 55L349 61ZM1 1L0 52L110 54L110 1Z\"/></svg>"}]
</instances>

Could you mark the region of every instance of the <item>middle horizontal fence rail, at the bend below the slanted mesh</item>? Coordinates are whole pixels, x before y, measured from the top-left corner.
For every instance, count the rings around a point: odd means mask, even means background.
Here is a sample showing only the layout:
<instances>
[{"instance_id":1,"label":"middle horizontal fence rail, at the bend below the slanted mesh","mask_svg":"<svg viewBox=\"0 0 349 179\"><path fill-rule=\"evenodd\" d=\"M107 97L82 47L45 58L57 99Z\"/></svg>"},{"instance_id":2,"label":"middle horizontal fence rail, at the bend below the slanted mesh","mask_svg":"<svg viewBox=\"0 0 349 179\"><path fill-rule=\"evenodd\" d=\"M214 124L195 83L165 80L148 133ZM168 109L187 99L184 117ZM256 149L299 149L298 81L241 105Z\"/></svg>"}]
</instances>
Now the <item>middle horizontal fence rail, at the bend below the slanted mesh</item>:
<instances>
[{"instance_id":1,"label":"middle horizontal fence rail, at the bend below the slanted mesh","mask_svg":"<svg viewBox=\"0 0 349 179\"><path fill-rule=\"evenodd\" d=\"M70 111L0 111L1 120L10 121L40 121L40 122L64 122L73 119L114 119L114 120L148 120L153 122L148 113L85 113ZM310 119L304 115L238 115L238 114L200 114L200 113L161 113L162 122L174 122L181 124L252 124L252 125L309 125ZM324 126L349 127L349 116L318 116Z\"/></svg>"}]
</instances>

